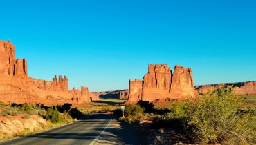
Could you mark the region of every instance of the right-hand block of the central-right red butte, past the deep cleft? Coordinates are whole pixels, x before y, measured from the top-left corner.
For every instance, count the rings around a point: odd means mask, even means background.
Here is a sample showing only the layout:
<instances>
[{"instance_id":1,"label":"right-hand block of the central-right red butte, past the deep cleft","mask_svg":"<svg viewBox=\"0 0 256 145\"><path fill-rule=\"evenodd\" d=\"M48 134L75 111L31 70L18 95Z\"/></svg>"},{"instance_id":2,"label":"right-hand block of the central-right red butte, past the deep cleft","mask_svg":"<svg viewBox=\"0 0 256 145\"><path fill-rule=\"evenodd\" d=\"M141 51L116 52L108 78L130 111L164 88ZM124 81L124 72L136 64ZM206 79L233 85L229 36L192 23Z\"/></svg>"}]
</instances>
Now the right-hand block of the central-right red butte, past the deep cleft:
<instances>
[{"instance_id":1,"label":"right-hand block of the central-right red butte, past the deep cleft","mask_svg":"<svg viewBox=\"0 0 256 145\"><path fill-rule=\"evenodd\" d=\"M191 68L177 65L174 67L170 93L173 99L194 97L194 80Z\"/></svg>"}]
</instances>

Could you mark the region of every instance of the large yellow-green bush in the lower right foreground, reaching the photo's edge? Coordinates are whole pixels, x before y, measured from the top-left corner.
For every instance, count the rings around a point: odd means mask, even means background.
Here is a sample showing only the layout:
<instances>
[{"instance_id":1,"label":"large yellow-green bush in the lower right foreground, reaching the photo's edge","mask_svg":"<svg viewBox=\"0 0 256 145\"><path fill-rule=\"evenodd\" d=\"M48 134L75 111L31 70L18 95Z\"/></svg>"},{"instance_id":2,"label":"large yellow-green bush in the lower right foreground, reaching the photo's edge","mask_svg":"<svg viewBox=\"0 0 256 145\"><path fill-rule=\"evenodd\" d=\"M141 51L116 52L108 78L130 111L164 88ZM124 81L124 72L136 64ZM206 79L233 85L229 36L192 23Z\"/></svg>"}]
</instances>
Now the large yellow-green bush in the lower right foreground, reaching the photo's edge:
<instances>
[{"instance_id":1,"label":"large yellow-green bush in the lower right foreground, reaching the photo's edge","mask_svg":"<svg viewBox=\"0 0 256 145\"><path fill-rule=\"evenodd\" d=\"M199 97L192 106L189 124L198 142L255 142L255 115L239 113L241 99L221 88Z\"/></svg>"}]
</instances>

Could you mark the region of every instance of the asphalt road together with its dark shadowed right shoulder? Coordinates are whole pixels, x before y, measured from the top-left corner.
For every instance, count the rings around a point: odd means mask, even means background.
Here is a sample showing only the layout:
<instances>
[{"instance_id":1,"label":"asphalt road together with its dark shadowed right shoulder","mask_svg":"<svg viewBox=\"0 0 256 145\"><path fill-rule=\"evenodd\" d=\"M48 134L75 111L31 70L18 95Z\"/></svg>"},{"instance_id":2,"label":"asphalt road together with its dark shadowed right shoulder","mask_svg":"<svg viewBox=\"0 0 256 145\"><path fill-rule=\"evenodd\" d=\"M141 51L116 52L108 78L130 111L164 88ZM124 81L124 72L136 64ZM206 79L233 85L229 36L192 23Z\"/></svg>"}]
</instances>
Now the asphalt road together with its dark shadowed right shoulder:
<instances>
[{"instance_id":1,"label":"asphalt road together with its dark shadowed right shoulder","mask_svg":"<svg viewBox=\"0 0 256 145\"><path fill-rule=\"evenodd\" d=\"M118 124L112 115L92 114L89 119L0 144L138 144L131 139L132 132Z\"/></svg>"}]
</instances>

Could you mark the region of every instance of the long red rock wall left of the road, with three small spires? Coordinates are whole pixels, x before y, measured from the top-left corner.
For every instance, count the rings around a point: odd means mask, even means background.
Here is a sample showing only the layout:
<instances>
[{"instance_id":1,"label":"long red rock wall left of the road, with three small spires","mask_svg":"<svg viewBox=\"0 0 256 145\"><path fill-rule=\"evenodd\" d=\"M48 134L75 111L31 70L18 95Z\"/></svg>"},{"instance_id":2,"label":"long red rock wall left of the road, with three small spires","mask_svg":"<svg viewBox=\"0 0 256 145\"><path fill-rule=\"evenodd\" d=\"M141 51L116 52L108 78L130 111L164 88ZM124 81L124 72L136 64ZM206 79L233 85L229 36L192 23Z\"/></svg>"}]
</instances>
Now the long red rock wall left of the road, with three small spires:
<instances>
[{"instance_id":1,"label":"long red rock wall left of the road, with three small spires","mask_svg":"<svg viewBox=\"0 0 256 145\"><path fill-rule=\"evenodd\" d=\"M68 90L68 77L53 77L53 81L28 76L26 59L15 58L15 46L0 40L0 100L3 103L81 104L89 99L86 87Z\"/></svg>"}]
</instances>

